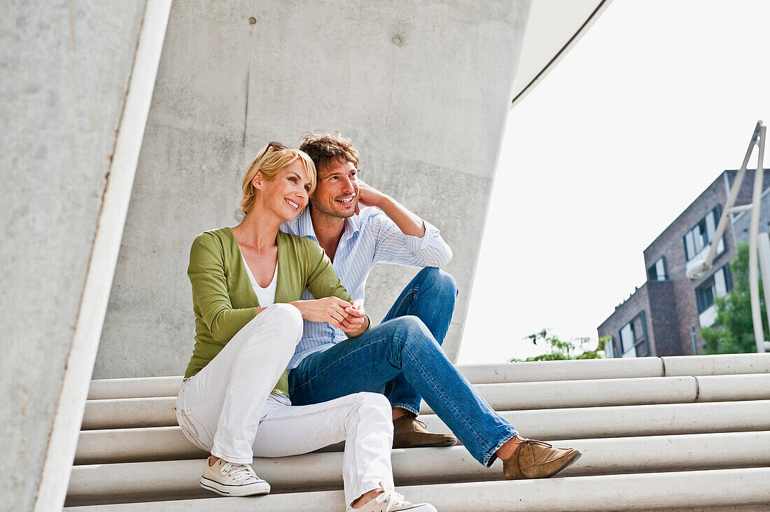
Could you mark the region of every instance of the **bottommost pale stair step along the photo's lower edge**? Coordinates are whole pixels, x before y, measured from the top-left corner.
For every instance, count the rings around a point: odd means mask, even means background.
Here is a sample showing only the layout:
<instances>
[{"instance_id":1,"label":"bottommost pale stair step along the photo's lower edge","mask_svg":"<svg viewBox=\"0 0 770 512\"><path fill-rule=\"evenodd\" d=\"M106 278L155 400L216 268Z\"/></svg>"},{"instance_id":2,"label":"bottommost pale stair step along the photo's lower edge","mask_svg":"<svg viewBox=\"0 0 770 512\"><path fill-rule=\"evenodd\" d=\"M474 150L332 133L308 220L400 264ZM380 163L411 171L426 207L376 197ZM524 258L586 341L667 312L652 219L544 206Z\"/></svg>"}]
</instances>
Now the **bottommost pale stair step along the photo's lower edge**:
<instances>
[{"instance_id":1,"label":"bottommost pale stair step along the photo's lower edge","mask_svg":"<svg viewBox=\"0 0 770 512\"><path fill-rule=\"evenodd\" d=\"M495 481L399 487L407 499L434 504L441 512L495 510L506 512L588 512L604 510L677 510L708 507L730 510L770 506L770 467L673 473L613 474L546 480ZM155 503L69 508L82 512L208 512L269 510L323 512L344 510L340 490L270 494L253 498L208 498Z\"/></svg>"}]
</instances>

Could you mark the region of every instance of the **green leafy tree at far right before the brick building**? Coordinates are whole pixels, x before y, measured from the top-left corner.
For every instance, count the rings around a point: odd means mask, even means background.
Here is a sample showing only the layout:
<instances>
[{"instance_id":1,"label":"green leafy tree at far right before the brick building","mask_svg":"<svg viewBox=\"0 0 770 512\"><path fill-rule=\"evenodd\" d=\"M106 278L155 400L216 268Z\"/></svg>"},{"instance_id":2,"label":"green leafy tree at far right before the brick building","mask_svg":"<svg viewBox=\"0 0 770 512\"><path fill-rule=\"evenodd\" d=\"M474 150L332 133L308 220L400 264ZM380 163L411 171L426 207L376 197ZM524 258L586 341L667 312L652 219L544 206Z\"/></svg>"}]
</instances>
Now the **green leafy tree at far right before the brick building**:
<instances>
[{"instance_id":1,"label":"green leafy tree at far right before the brick building","mask_svg":"<svg viewBox=\"0 0 770 512\"><path fill-rule=\"evenodd\" d=\"M748 244L739 244L735 258L730 262L732 289L714 300L717 320L711 327L701 328L705 354L756 352L752 300L748 291ZM759 280L759 303L762 308L762 326L768 332L765 295Z\"/></svg>"}]
</instances>

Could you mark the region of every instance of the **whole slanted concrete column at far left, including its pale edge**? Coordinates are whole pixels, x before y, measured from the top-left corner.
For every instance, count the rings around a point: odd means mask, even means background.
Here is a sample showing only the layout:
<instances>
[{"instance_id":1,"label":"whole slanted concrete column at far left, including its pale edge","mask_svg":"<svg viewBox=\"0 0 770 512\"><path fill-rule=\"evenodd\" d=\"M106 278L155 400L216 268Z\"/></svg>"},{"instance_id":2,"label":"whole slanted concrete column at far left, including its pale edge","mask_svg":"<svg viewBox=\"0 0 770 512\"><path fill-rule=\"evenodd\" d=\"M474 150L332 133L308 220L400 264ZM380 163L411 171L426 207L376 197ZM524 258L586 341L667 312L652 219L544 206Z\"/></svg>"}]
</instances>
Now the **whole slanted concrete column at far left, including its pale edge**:
<instances>
[{"instance_id":1,"label":"whole slanted concrete column at far left, including its pale edge","mask_svg":"<svg viewBox=\"0 0 770 512\"><path fill-rule=\"evenodd\" d=\"M0 450L10 510L64 503L168 8L0 5Z\"/></svg>"}]
</instances>

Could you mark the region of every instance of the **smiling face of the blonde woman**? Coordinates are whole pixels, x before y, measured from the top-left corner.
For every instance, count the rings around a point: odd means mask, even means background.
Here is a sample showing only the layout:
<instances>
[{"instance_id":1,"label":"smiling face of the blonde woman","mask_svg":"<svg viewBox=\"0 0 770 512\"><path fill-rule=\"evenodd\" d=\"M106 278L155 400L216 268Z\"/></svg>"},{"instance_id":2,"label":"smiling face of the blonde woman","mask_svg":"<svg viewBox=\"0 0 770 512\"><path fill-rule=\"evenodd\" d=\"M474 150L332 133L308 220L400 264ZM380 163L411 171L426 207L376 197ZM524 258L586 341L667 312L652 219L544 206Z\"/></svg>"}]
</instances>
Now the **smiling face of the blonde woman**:
<instances>
[{"instance_id":1,"label":"smiling face of the blonde woman","mask_svg":"<svg viewBox=\"0 0 770 512\"><path fill-rule=\"evenodd\" d=\"M310 179L302 160L296 159L281 169L274 179L262 179L257 188L262 191L259 200L266 209L275 213L282 222L289 221L307 206Z\"/></svg>"}]
</instances>

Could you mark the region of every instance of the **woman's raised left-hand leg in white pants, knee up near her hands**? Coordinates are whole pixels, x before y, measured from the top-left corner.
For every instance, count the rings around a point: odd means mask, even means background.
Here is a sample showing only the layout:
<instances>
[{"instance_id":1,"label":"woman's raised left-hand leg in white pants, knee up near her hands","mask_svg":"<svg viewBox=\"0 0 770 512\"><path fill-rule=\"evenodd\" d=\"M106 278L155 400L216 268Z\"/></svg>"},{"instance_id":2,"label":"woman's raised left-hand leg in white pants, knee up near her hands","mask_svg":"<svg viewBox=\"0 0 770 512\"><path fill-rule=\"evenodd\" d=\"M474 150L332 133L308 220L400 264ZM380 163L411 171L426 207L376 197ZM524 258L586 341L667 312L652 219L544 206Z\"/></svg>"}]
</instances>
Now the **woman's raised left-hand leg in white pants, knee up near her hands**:
<instances>
[{"instance_id":1,"label":"woman's raised left-hand leg in white pants, knee up near her hands","mask_svg":"<svg viewBox=\"0 0 770 512\"><path fill-rule=\"evenodd\" d=\"M302 316L290 304L270 306L239 330L183 385L176 407L186 436L227 462L251 463L263 407L301 336Z\"/></svg>"}]
</instances>

